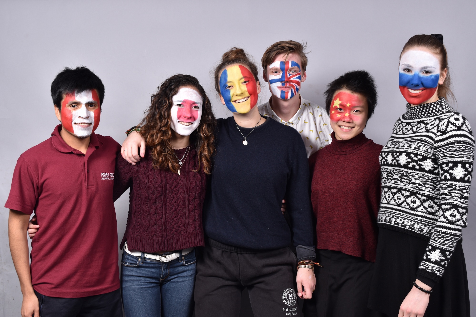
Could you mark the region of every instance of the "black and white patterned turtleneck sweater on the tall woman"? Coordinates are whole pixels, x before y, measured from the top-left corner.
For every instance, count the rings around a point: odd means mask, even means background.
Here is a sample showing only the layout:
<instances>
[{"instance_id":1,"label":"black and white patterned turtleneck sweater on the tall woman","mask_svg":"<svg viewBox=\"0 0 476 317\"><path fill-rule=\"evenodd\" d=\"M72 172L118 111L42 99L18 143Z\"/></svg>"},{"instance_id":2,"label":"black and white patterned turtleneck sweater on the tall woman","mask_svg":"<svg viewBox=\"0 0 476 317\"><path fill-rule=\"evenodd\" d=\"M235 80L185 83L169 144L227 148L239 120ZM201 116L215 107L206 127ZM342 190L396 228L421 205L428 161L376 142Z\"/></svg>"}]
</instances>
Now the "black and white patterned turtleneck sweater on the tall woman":
<instances>
[{"instance_id":1,"label":"black and white patterned turtleneck sweater on the tall woman","mask_svg":"<svg viewBox=\"0 0 476 317\"><path fill-rule=\"evenodd\" d=\"M469 122L440 97L407 104L380 152L377 223L428 241L418 276L438 282L466 227L474 145Z\"/></svg>"}]
</instances>

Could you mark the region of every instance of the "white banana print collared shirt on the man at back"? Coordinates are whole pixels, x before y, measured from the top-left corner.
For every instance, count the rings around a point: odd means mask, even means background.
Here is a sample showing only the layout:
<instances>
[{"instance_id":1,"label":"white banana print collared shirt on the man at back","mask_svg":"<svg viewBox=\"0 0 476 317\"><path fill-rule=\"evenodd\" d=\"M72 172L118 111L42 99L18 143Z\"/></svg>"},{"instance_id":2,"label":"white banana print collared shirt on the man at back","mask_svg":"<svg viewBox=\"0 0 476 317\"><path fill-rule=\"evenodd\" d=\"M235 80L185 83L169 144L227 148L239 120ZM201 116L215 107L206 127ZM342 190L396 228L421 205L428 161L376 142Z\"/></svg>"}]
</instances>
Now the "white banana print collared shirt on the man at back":
<instances>
[{"instance_id":1,"label":"white banana print collared shirt on the man at back","mask_svg":"<svg viewBox=\"0 0 476 317\"><path fill-rule=\"evenodd\" d=\"M271 117L296 129L306 145L307 158L309 158L312 153L330 144L332 128L325 108L319 107L301 96L299 97L301 98L301 106L289 121L279 118L269 106L269 101L258 106L258 110L263 116Z\"/></svg>"}]
</instances>

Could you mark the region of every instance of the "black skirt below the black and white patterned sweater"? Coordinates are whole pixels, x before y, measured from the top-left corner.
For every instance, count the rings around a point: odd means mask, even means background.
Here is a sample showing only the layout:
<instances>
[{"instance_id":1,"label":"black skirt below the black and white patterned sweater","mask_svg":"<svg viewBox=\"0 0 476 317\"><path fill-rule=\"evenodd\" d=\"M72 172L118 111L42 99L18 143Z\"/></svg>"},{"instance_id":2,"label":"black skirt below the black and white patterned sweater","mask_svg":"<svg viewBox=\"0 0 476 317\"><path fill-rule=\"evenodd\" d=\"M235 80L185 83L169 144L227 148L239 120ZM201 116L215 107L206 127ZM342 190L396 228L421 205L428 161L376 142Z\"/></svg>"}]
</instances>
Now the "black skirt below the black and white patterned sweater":
<instances>
[{"instance_id":1,"label":"black skirt below the black and white patterned sweater","mask_svg":"<svg viewBox=\"0 0 476 317\"><path fill-rule=\"evenodd\" d=\"M397 317L403 300L413 287L426 251L426 240L380 228L377 258L370 286L368 307ZM469 317L469 292L461 239L445 273L433 287L425 317Z\"/></svg>"}]
</instances>

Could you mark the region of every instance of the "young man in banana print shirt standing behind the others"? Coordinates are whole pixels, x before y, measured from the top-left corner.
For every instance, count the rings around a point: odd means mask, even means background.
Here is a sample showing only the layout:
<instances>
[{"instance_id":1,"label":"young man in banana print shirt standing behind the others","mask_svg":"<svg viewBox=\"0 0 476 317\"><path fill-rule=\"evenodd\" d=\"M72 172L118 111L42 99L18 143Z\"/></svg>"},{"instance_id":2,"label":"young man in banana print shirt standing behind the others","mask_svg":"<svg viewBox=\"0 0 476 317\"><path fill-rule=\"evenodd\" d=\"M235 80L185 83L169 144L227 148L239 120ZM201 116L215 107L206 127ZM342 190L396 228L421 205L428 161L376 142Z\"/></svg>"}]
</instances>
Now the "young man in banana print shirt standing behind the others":
<instances>
[{"instance_id":1,"label":"young man in banana print shirt standing behind the others","mask_svg":"<svg viewBox=\"0 0 476 317\"><path fill-rule=\"evenodd\" d=\"M332 129L324 109L301 97L306 80L305 46L293 40L269 46L261 59L263 79L271 98L258 107L259 113L296 129L306 146L307 157L331 142Z\"/></svg>"}]
</instances>

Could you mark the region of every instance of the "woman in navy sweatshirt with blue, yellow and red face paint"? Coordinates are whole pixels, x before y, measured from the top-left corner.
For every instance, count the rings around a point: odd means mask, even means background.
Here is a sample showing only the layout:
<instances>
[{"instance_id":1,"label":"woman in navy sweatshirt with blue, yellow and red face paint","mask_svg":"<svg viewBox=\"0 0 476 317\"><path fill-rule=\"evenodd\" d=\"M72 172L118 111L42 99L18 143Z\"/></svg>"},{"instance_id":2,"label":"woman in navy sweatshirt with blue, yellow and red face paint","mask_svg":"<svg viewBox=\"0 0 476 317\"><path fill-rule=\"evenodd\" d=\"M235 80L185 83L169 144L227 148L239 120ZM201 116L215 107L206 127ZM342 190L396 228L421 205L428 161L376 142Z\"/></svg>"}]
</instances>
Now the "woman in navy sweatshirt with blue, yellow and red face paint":
<instances>
[{"instance_id":1,"label":"woman in navy sweatshirt with blue, yellow and red face paint","mask_svg":"<svg viewBox=\"0 0 476 317\"><path fill-rule=\"evenodd\" d=\"M239 316L246 287L254 316L291 316L315 287L306 149L295 129L259 115L258 70L242 49L223 54L215 88L233 116L218 119L195 313Z\"/></svg>"}]
</instances>

